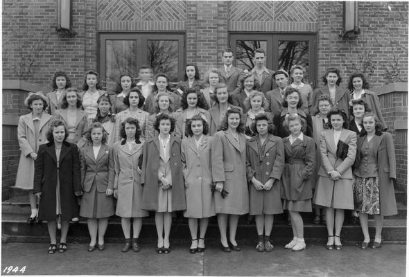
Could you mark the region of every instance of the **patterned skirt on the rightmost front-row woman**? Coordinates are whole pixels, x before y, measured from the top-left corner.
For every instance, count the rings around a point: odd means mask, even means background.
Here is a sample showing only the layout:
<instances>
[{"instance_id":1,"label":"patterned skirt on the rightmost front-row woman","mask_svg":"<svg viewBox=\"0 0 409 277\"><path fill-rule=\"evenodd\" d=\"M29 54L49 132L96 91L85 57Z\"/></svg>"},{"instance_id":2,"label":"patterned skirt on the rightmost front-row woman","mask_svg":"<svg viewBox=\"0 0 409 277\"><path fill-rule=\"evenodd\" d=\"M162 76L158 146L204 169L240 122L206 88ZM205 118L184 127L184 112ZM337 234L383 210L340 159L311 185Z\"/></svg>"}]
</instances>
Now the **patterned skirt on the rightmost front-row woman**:
<instances>
[{"instance_id":1,"label":"patterned skirt on the rightmost front-row woman","mask_svg":"<svg viewBox=\"0 0 409 277\"><path fill-rule=\"evenodd\" d=\"M362 202L356 207L356 211L359 213L367 213L368 215L381 214L377 177L355 177L354 193L356 193L358 198L362 200Z\"/></svg>"}]
</instances>

